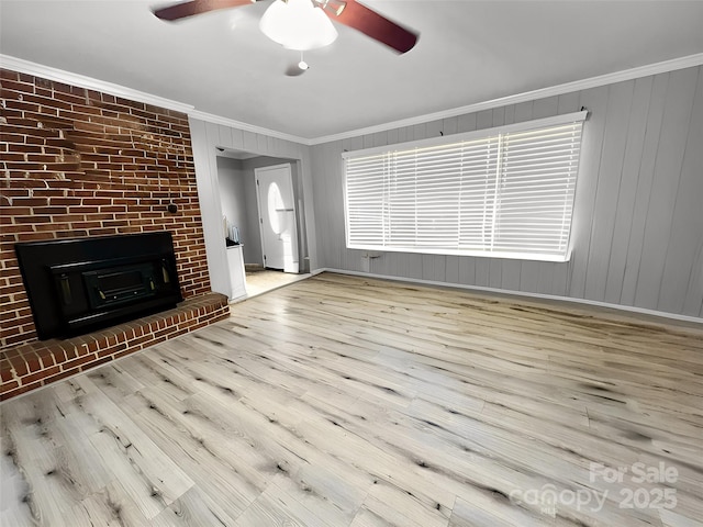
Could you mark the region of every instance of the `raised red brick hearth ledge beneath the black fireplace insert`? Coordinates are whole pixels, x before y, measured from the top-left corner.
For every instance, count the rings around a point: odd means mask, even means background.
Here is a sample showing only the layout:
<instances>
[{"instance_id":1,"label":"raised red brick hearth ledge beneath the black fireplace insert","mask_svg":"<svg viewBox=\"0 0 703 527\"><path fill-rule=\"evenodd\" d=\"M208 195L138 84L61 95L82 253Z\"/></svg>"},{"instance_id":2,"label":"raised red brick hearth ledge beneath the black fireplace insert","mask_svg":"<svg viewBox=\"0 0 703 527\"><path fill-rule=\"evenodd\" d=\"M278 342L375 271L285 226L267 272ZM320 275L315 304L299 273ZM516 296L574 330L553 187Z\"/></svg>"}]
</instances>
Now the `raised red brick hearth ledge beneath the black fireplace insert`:
<instances>
[{"instance_id":1,"label":"raised red brick hearth ledge beneath the black fireplace insert","mask_svg":"<svg viewBox=\"0 0 703 527\"><path fill-rule=\"evenodd\" d=\"M0 400L51 384L230 316L227 298L201 294L175 309L66 340L0 350Z\"/></svg>"}]
</instances>

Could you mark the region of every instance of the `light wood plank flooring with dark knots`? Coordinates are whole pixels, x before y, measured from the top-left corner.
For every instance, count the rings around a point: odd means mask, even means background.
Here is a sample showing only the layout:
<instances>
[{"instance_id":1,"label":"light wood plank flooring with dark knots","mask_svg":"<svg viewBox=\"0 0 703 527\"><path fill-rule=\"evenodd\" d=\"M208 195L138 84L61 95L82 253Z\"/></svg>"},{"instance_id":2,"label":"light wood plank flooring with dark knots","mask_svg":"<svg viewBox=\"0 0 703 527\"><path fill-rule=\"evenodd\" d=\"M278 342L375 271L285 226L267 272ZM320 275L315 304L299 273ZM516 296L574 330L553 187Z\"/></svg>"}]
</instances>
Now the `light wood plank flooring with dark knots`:
<instances>
[{"instance_id":1,"label":"light wood plank flooring with dark knots","mask_svg":"<svg viewBox=\"0 0 703 527\"><path fill-rule=\"evenodd\" d=\"M703 525L696 325L325 273L0 412L3 527Z\"/></svg>"}]
</instances>

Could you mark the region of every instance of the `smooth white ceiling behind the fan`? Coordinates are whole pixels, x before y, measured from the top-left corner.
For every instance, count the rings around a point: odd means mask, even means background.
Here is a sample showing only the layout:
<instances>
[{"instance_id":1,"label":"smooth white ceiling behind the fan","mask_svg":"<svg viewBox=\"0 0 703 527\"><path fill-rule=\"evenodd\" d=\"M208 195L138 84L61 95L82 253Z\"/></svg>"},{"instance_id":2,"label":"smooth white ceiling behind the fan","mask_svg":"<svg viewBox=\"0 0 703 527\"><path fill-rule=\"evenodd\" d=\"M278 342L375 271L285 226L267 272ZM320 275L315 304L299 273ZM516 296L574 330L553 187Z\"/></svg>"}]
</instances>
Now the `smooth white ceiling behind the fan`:
<instances>
[{"instance_id":1,"label":"smooth white ceiling behind the fan","mask_svg":"<svg viewBox=\"0 0 703 527\"><path fill-rule=\"evenodd\" d=\"M703 53L703 1L367 0L421 33L405 55L337 25L300 54L269 2L178 23L161 0L0 0L0 53L312 139Z\"/></svg>"}]
</instances>

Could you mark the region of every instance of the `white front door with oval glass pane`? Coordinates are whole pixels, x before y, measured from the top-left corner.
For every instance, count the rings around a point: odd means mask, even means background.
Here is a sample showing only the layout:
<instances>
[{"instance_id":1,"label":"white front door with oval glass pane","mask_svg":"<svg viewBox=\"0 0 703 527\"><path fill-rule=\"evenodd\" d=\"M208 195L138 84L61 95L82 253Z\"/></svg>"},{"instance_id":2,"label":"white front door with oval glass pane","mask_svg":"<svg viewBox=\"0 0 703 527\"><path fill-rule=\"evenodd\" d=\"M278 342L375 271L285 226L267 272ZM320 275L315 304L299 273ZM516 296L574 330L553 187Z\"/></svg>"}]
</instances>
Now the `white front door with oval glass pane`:
<instances>
[{"instance_id":1,"label":"white front door with oval glass pane","mask_svg":"<svg viewBox=\"0 0 703 527\"><path fill-rule=\"evenodd\" d=\"M257 168L264 267L298 272L298 229L290 165Z\"/></svg>"}]
</instances>

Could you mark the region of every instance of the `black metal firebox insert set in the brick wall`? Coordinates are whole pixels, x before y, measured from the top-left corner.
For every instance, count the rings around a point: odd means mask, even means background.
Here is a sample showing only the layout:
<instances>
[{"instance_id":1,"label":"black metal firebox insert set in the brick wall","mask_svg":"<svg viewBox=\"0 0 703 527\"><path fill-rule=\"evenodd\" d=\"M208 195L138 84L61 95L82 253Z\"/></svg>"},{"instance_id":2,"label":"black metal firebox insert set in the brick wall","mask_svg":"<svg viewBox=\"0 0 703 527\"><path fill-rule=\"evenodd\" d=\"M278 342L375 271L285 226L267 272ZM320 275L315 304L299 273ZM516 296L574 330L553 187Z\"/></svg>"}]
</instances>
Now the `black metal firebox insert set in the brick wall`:
<instances>
[{"instance_id":1,"label":"black metal firebox insert set in the brick wall","mask_svg":"<svg viewBox=\"0 0 703 527\"><path fill-rule=\"evenodd\" d=\"M14 247L42 340L108 327L183 300L168 232Z\"/></svg>"}]
</instances>

